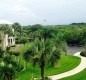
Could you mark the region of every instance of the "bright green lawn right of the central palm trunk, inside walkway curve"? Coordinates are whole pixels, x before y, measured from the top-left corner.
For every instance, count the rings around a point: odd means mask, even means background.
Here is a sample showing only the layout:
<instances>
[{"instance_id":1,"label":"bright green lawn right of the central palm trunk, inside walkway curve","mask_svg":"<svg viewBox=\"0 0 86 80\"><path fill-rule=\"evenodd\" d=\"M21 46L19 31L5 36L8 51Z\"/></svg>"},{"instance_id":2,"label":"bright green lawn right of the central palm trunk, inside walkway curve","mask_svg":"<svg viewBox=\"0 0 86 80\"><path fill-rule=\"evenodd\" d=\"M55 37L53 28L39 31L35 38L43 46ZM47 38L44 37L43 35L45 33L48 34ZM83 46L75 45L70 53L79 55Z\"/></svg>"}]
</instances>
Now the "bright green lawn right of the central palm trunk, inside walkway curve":
<instances>
[{"instance_id":1,"label":"bright green lawn right of the central palm trunk, inside walkway curve","mask_svg":"<svg viewBox=\"0 0 86 80\"><path fill-rule=\"evenodd\" d=\"M66 72L68 70L71 70L78 66L80 64L81 59L75 56L64 56L62 55L58 67L52 68L49 67L47 68L46 74L52 75L52 74L59 74Z\"/></svg>"}]
</instances>

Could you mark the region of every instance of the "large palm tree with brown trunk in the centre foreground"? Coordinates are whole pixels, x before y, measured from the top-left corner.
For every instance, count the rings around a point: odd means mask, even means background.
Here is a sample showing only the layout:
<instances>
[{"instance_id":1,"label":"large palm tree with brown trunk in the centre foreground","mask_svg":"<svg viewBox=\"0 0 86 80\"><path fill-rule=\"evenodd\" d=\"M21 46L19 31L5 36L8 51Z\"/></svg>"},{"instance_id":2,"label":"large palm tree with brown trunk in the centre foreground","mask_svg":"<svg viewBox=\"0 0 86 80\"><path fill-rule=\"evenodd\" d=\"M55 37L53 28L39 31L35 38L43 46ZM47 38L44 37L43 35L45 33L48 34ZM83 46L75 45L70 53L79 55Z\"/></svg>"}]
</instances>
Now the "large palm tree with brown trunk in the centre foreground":
<instances>
[{"instance_id":1,"label":"large palm tree with brown trunk in the centre foreground","mask_svg":"<svg viewBox=\"0 0 86 80\"><path fill-rule=\"evenodd\" d=\"M55 41L35 39L33 45L24 53L24 59L40 66L41 78L44 80L44 69L46 64L55 66L60 59L60 50L56 47Z\"/></svg>"}]
</instances>

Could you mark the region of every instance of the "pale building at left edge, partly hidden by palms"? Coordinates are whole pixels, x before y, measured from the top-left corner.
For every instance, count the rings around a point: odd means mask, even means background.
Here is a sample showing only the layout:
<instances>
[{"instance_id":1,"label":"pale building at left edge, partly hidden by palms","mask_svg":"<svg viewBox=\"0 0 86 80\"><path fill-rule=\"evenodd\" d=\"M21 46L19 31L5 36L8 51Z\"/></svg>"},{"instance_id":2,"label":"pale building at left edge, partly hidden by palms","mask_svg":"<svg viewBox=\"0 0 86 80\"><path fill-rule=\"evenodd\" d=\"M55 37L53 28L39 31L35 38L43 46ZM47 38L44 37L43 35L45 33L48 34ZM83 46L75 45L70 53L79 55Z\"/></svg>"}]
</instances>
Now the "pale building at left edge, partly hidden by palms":
<instances>
[{"instance_id":1,"label":"pale building at left edge, partly hidden by palms","mask_svg":"<svg viewBox=\"0 0 86 80\"><path fill-rule=\"evenodd\" d=\"M8 24L12 30L12 33L14 34L14 29L11 27L13 23L11 23L10 21L6 21L6 20L0 20L0 25L1 24ZM8 34L5 34L4 31L0 31L0 32L1 32L3 50L6 50L7 47L15 45L15 36L9 36Z\"/></svg>"}]
</instances>

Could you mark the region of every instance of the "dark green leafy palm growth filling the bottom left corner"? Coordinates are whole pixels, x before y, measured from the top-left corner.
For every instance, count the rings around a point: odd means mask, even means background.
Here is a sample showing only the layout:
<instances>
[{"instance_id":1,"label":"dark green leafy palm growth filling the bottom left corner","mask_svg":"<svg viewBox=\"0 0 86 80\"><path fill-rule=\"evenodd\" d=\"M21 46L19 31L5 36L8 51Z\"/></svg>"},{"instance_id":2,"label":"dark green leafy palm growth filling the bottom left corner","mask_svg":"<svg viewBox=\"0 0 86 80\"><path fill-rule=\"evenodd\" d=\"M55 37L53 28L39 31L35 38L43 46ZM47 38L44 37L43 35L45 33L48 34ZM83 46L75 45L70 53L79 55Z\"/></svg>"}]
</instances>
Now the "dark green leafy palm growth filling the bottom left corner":
<instances>
[{"instance_id":1,"label":"dark green leafy palm growth filling the bottom left corner","mask_svg":"<svg viewBox=\"0 0 86 80\"><path fill-rule=\"evenodd\" d=\"M1 52L3 52L1 50ZM17 72L17 62L12 57L12 52L10 52L10 47L7 47L4 54L1 57L0 65L0 80L15 80L15 74Z\"/></svg>"}]
</instances>

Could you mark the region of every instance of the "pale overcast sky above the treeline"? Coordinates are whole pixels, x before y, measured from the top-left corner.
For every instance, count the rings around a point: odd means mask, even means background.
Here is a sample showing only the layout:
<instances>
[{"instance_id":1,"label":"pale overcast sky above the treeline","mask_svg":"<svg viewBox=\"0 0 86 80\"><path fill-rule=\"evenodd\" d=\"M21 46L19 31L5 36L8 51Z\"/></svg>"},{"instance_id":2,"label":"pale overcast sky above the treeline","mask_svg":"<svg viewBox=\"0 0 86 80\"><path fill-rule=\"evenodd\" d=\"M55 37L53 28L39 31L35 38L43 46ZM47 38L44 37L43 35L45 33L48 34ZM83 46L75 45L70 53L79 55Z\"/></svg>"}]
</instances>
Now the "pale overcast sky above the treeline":
<instances>
[{"instance_id":1,"label":"pale overcast sky above the treeline","mask_svg":"<svg viewBox=\"0 0 86 80\"><path fill-rule=\"evenodd\" d=\"M86 22L86 0L0 0L0 22L22 25Z\"/></svg>"}]
</instances>

